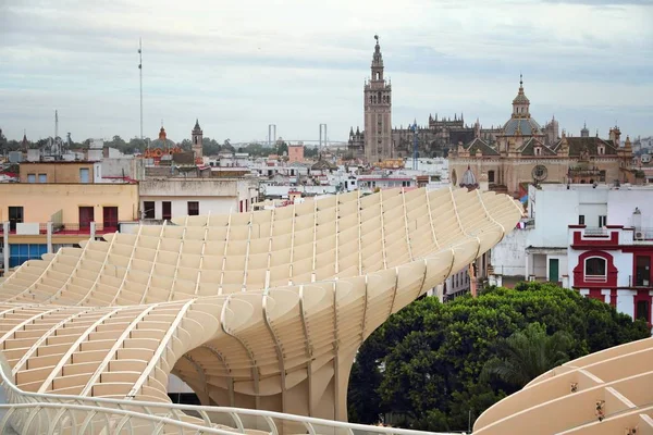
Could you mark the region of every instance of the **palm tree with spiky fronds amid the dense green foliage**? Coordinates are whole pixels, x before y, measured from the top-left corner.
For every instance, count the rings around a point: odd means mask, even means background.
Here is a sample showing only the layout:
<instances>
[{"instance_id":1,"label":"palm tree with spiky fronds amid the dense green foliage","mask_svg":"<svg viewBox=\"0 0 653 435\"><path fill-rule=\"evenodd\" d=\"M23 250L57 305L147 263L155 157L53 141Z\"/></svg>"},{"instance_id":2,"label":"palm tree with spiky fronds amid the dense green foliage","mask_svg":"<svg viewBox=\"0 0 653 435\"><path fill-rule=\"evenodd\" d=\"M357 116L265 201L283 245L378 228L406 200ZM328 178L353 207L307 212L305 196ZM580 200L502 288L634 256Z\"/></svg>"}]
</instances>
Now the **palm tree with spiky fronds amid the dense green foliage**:
<instances>
[{"instance_id":1,"label":"palm tree with spiky fronds amid the dense green foliage","mask_svg":"<svg viewBox=\"0 0 653 435\"><path fill-rule=\"evenodd\" d=\"M482 376L497 377L507 384L523 387L542 373L569 361L571 335L558 331L546 335L540 323L530 323L496 343L497 356L485 362Z\"/></svg>"}]
</instances>

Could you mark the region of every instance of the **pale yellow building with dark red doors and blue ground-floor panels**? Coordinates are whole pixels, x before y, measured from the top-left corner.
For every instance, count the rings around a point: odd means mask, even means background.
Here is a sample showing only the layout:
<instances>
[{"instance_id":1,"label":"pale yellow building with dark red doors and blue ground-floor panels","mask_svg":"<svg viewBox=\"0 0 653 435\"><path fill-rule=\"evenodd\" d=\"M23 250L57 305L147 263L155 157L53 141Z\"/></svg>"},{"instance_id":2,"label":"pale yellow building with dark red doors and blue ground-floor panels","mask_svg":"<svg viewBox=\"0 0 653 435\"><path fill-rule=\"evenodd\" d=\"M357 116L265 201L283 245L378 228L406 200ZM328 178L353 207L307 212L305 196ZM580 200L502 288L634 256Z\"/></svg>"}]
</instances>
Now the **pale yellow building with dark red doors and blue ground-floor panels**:
<instances>
[{"instance_id":1,"label":"pale yellow building with dark red doors and blue ground-floor panels","mask_svg":"<svg viewBox=\"0 0 653 435\"><path fill-rule=\"evenodd\" d=\"M137 184L0 184L0 234L4 239L0 269L76 245L91 235L115 232L120 222L136 220Z\"/></svg>"}]
</instances>

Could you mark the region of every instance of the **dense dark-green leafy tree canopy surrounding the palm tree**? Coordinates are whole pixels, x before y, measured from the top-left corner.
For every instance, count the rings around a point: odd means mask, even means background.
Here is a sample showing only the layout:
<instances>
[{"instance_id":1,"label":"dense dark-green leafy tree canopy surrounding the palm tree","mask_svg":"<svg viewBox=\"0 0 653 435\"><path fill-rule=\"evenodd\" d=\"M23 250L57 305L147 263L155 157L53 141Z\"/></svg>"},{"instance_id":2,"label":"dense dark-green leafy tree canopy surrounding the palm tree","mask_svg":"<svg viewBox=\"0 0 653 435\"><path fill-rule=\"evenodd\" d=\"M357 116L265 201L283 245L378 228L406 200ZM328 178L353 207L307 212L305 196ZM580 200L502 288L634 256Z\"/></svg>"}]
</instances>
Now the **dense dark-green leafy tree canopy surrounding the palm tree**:
<instances>
[{"instance_id":1,"label":"dense dark-green leafy tree canopy surrounding the palm tree","mask_svg":"<svg viewBox=\"0 0 653 435\"><path fill-rule=\"evenodd\" d=\"M529 327L533 323L539 325ZM395 426L467 430L470 415L473 422L523 384L483 376L488 361L505 358L498 345L518 340L518 335L508 338L516 332L537 336L537 346L552 346L549 337L570 340L564 349L552 350L553 357L538 370L529 369L523 380L566 357L651 335L642 321L552 284L491 288L476 299L461 297L445 304L423 298L393 314L361 346L349 378L349 420L375 423L385 415Z\"/></svg>"}]
</instances>

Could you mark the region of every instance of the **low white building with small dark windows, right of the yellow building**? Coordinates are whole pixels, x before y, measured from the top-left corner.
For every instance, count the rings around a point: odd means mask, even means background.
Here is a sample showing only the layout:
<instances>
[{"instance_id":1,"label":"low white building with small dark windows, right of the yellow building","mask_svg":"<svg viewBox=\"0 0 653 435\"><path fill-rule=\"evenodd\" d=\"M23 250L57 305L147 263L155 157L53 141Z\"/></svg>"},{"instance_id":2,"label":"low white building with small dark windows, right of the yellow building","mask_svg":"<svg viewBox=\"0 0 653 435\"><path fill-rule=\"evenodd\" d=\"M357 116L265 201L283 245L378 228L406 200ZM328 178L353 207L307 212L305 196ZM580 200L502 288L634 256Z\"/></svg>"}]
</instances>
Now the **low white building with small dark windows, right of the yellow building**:
<instances>
[{"instance_id":1,"label":"low white building with small dark windows, right of the yellow building","mask_svg":"<svg viewBox=\"0 0 653 435\"><path fill-rule=\"evenodd\" d=\"M256 178L164 178L138 185L144 220L247 212L258 197Z\"/></svg>"}]
</instances>

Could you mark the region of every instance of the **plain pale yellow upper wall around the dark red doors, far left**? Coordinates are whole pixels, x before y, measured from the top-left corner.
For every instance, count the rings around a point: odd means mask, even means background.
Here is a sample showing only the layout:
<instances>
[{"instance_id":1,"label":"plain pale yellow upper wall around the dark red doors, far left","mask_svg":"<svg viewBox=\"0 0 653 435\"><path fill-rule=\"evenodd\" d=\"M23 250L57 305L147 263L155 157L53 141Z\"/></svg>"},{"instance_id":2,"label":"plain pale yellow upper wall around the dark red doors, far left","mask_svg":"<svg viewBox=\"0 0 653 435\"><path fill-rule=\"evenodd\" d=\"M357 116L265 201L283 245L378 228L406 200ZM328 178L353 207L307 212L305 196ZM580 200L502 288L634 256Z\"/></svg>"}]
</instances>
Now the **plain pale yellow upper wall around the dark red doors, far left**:
<instances>
[{"instance_id":1,"label":"plain pale yellow upper wall around the dark red doors, far left","mask_svg":"<svg viewBox=\"0 0 653 435\"><path fill-rule=\"evenodd\" d=\"M62 222L79 223L79 207L93 207L95 221L102 222L102 207L118 207L119 221L138 219L136 184L0 184L0 221L9 219L9 207L23 207L24 222L46 223L61 210Z\"/></svg>"}]
</instances>

